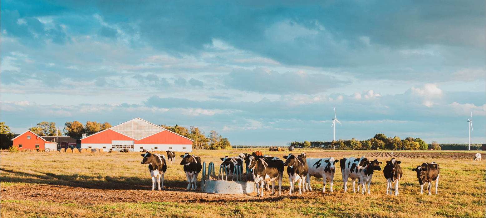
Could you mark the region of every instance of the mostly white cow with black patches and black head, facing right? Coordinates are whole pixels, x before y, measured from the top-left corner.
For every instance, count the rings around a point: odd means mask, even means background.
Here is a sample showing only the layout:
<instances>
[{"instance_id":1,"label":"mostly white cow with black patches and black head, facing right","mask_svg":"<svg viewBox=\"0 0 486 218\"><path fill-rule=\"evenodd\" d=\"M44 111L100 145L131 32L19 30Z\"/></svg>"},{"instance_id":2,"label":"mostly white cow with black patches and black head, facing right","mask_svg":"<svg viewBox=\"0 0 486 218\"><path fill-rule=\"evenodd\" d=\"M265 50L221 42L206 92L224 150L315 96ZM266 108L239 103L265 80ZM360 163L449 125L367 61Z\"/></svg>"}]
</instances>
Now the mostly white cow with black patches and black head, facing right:
<instances>
[{"instance_id":1,"label":"mostly white cow with black patches and black head, facing right","mask_svg":"<svg viewBox=\"0 0 486 218\"><path fill-rule=\"evenodd\" d=\"M307 183L305 188L311 187L311 176L316 178L322 178L323 187L322 192L326 192L326 179L330 182L330 192L332 191L332 183L334 181L335 165L334 163L339 162L339 160L334 159L334 157L329 158L307 158L307 166L309 166L309 172L307 172ZM308 190L309 190L308 189Z\"/></svg>"}]
</instances>

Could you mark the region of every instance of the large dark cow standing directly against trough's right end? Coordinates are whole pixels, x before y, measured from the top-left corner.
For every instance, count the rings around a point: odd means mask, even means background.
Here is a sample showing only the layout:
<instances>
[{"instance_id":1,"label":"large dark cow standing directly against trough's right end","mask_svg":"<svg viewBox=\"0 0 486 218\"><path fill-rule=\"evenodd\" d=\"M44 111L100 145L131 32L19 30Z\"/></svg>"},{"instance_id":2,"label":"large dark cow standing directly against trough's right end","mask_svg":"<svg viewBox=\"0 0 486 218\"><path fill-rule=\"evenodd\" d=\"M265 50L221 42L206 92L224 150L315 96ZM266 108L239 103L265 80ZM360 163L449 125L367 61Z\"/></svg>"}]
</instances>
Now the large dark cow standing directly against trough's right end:
<instances>
[{"instance_id":1,"label":"large dark cow standing directly against trough's right end","mask_svg":"<svg viewBox=\"0 0 486 218\"><path fill-rule=\"evenodd\" d=\"M272 182L272 195L274 195L276 180L278 180L278 195L281 195L283 161L280 159L267 159L264 156L255 155L249 156L248 160L248 168L251 170L253 181L255 181L255 186L257 187L257 196L263 197L264 182Z\"/></svg>"}]
</instances>

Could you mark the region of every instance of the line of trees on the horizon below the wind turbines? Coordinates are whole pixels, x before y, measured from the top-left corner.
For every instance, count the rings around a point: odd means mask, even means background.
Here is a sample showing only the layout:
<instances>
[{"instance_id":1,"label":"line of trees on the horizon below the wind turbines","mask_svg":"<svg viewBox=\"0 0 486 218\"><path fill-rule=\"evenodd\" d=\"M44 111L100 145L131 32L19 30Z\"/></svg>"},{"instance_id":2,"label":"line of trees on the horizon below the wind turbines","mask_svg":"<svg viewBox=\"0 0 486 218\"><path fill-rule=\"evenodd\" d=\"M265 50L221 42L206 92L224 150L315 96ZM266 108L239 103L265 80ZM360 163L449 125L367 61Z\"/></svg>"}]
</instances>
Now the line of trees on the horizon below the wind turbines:
<instances>
[{"instance_id":1,"label":"line of trees on the horizon below the wind turbines","mask_svg":"<svg viewBox=\"0 0 486 218\"><path fill-rule=\"evenodd\" d=\"M440 150L440 145L433 141L431 145L420 138L408 137L400 140L398 136L386 137L384 134L376 134L368 140L336 140L336 141L304 141L289 142L289 146L295 148L335 148L340 150L427 150L430 148Z\"/></svg>"}]
</instances>

